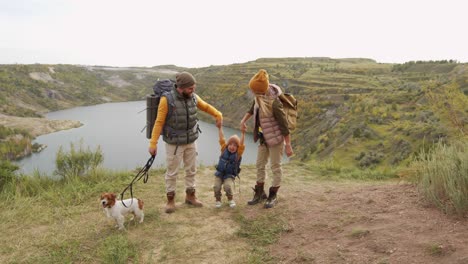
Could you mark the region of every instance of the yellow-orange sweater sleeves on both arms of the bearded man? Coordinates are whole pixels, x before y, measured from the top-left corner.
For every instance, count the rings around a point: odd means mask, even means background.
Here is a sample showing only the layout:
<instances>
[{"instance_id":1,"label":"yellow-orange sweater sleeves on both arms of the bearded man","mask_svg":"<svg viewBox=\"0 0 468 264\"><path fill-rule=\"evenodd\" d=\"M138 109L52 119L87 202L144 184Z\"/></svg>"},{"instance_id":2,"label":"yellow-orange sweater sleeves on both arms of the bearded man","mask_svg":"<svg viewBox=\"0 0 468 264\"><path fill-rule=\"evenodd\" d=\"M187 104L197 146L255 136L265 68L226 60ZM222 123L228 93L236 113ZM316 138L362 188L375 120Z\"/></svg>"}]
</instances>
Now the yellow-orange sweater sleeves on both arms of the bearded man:
<instances>
[{"instance_id":1,"label":"yellow-orange sweater sleeves on both arms of the bearded man","mask_svg":"<svg viewBox=\"0 0 468 264\"><path fill-rule=\"evenodd\" d=\"M211 116L216 118L217 121L223 119L223 114L221 112L219 112L212 105L203 101L198 95L195 94L195 96L197 97L198 109L210 114ZM167 98L165 96L162 96L158 106L158 116L156 117L153 132L151 133L150 148L156 148L156 146L158 145L158 139L161 135L162 128L164 127L164 123L166 122L168 109L169 108L167 104Z\"/></svg>"}]
</instances>

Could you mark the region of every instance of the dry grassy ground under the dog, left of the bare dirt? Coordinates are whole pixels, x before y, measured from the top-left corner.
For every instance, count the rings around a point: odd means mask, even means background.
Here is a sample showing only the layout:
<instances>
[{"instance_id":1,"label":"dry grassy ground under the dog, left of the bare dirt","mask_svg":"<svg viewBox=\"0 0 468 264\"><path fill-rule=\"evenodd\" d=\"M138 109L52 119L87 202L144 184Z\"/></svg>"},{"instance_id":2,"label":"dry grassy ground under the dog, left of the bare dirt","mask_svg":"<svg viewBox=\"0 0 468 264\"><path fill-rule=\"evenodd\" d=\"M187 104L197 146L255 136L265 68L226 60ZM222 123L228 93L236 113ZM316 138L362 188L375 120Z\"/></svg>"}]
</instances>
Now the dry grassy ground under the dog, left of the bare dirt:
<instances>
[{"instance_id":1,"label":"dry grassy ground under the dog, left of the bare dirt","mask_svg":"<svg viewBox=\"0 0 468 264\"><path fill-rule=\"evenodd\" d=\"M64 201L69 206L60 203L51 206L34 198L12 200L0 214L3 234L0 262L180 263L189 259L197 263L249 262L252 254L264 252L252 251L249 239L239 235L239 215L251 195L246 182L253 182L249 179L253 172L252 168L243 171L241 193L235 195L237 208L231 209L226 204L216 209L212 193L214 171L202 167L197 196L205 203L204 207L193 208L184 203L183 181L179 180L177 210L166 214L163 173L153 171L147 184L140 181L134 187L134 195L145 201L145 222L138 224L127 219L125 231L115 229L113 220L105 217L98 194L81 203ZM239 182L236 189L238 192ZM255 209L264 210L260 206Z\"/></svg>"}]
</instances>

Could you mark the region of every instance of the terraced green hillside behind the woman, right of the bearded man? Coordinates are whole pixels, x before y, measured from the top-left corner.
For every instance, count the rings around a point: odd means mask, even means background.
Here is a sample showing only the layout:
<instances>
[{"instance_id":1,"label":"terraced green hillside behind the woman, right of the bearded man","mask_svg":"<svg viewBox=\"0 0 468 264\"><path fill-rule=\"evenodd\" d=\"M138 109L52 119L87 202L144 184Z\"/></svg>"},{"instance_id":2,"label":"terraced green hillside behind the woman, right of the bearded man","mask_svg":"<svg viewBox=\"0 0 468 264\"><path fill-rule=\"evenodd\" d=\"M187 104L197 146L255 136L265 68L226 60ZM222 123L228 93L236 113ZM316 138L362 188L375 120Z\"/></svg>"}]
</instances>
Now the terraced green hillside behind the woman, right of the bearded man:
<instances>
[{"instance_id":1,"label":"terraced green hillside behind the woman, right of the bearded man","mask_svg":"<svg viewBox=\"0 0 468 264\"><path fill-rule=\"evenodd\" d=\"M423 144L466 135L468 73L452 61L381 64L369 59L259 59L197 69L198 93L237 127L264 68L299 100L293 143L301 161L374 168L404 165ZM456 119L456 120L455 120Z\"/></svg>"}]
</instances>

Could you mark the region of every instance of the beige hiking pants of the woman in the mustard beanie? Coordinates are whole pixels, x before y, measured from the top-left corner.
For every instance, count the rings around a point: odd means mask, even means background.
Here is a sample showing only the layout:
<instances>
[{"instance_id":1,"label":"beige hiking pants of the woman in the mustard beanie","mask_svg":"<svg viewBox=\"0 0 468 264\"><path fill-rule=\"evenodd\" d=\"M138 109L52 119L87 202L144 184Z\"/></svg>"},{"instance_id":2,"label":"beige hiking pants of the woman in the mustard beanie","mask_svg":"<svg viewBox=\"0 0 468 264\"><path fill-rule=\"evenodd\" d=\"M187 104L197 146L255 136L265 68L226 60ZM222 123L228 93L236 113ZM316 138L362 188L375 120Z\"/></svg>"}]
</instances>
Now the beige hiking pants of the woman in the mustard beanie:
<instances>
[{"instance_id":1,"label":"beige hiking pants of the woman in the mustard beanie","mask_svg":"<svg viewBox=\"0 0 468 264\"><path fill-rule=\"evenodd\" d=\"M270 160L270 168L273 173L271 187L281 185L283 170L281 161L283 158L284 144L280 143L272 147L267 147L265 144L260 144L257 150L257 182L265 182L267 177L266 165Z\"/></svg>"}]
</instances>

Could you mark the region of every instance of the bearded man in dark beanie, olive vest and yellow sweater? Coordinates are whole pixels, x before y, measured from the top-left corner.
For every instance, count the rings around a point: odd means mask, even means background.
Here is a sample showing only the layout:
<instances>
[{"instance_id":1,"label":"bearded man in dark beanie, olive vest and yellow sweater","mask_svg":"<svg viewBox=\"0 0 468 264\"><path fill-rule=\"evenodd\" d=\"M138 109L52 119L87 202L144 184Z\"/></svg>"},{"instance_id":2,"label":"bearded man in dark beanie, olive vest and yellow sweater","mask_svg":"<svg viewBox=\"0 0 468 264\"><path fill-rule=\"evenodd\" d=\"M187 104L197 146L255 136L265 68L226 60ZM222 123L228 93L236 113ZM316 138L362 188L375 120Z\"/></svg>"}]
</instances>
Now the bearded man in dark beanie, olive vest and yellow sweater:
<instances>
[{"instance_id":1,"label":"bearded man in dark beanie, olive vest and yellow sweater","mask_svg":"<svg viewBox=\"0 0 468 264\"><path fill-rule=\"evenodd\" d=\"M197 145L199 135L198 109L216 119L216 126L222 126L223 116L216 108L195 94L196 80L192 74L181 72L176 75L176 84L170 93L161 97L158 115L151 134L149 153L157 154L159 136L166 142L166 213L175 211L175 192L179 166L185 169L185 203L201 207L203 204L195 195L197 173ZM171 104L171 105L169 105ZM169 111L171 111L169 113Z\"/></svg>"}]
</instances>

